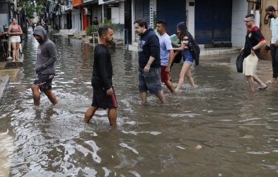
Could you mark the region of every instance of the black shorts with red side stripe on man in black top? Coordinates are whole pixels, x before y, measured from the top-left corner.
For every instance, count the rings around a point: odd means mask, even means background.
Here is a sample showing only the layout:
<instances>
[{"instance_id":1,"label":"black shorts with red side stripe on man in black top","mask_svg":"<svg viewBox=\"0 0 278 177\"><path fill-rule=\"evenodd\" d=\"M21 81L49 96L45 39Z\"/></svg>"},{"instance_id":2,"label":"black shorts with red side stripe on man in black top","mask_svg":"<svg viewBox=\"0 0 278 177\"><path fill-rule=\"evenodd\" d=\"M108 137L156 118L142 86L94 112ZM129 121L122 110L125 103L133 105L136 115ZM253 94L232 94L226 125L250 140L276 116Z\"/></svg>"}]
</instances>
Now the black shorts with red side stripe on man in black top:
<instances>
[{"instance_id":1,"label":"black shorts with red side stripe on man in black top","mask_svg":"<svg viewBox=\"0 0 278 177\"><path fill-rule=\"evenodd\" d=\"M106 90L101 87L93 87L92 105L99 108L117 108L117 99L113 90L112 95L107 95Z\"/></svg>"}]
</instances>

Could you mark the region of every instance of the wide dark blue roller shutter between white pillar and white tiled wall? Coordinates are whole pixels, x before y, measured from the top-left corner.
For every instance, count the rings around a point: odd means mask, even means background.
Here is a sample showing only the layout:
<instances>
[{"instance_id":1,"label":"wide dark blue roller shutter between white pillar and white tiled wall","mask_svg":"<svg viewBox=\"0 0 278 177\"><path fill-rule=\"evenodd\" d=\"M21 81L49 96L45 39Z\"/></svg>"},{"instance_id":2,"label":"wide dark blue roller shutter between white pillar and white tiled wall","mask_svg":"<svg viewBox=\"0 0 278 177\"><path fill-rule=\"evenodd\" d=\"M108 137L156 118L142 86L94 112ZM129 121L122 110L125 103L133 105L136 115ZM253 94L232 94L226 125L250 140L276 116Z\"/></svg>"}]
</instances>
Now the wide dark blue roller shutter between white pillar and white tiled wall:
<instances>
[{"instance_id":1,"label":"wide dark blue roller shutter between white pillar and white tiled wall","mask_svg":"<svg viewBox=\"0 0 278 177\"><path fill-rule=\"evenodd\" d=\"M195 39L198 44L231 42L232 0L195 1Z\"/></svg>"}]
</instances>

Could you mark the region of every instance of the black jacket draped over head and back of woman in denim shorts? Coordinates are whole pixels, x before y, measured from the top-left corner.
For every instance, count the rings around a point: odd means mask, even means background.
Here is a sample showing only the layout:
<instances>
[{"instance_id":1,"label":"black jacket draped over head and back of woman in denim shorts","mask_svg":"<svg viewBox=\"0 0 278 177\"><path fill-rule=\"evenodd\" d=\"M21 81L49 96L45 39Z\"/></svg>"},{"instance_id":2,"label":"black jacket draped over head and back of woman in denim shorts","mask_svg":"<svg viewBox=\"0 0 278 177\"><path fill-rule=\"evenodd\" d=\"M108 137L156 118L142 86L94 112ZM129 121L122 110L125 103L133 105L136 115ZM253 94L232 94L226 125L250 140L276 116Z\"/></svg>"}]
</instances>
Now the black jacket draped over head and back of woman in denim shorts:
<instances>
[{"instance_id":1,"label":"black jacket draped over head and back of woman in denim shorts","mask_svg":"<svg viewBox=\"0 0 278 177\"><path fill-rule=\"evenodd\" d=\"M177 28L179 28L181 30L181 33L183 33L184 35L186 35L188 37L188 48L190 49L191 55L193 56L193 58L195 60L195 64L199 65L199 54L200 54L199 45L194 40L194 37L188 32L186 23L180 22L177 25Z\"/></svg>"}]
</instances>

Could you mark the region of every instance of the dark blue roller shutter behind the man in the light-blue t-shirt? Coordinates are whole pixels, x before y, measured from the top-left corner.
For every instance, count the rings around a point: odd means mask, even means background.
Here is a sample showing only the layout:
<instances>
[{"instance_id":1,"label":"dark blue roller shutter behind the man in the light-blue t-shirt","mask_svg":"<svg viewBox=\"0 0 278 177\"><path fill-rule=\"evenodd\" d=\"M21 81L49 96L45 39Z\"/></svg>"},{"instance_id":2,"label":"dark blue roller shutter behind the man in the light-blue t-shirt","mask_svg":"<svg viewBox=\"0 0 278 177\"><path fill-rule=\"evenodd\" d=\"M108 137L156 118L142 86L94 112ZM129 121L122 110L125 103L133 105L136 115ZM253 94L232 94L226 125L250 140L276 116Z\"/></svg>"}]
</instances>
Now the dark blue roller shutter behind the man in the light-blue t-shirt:
<instances>
[{"instance_id":1,"label":"dark blue roller shutter behind the man in the light-blue t-shirt","mask_svg":"<svg viewBox=\"0 0 278 177\"><path fill-rule=\"evenodd\" d=\"M167 34L177 33L177 24L186 22L186 0L159 0L156 2L156 19L167 21Z\"/></svg>"}]
</instances>

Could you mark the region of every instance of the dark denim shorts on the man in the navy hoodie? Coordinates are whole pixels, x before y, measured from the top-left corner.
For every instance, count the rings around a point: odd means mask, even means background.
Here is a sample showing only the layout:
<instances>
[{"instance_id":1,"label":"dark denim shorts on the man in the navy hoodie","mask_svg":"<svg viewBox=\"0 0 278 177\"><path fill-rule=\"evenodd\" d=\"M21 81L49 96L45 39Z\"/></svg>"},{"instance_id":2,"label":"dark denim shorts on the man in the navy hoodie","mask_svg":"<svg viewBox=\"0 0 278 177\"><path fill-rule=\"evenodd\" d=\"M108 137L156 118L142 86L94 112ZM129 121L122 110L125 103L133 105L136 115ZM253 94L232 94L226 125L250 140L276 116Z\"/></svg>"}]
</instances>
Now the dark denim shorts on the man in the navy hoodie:
<instances>
[{"instance_id":1,"label":"dark denim shorts on the man in the navy hoodie","mask_svg":"<svg viewBox=\"0 0 278 177\"><path fill-rule=\"evenodd\" d=\"M161 92L161 67L151 67L147 74L144 73L144 68L138 68L138 88L139 92L158 93Z\"/></svg>"}]
</instances>

